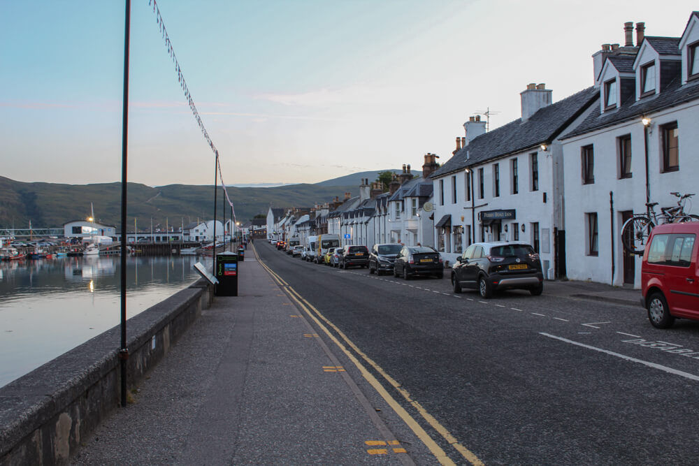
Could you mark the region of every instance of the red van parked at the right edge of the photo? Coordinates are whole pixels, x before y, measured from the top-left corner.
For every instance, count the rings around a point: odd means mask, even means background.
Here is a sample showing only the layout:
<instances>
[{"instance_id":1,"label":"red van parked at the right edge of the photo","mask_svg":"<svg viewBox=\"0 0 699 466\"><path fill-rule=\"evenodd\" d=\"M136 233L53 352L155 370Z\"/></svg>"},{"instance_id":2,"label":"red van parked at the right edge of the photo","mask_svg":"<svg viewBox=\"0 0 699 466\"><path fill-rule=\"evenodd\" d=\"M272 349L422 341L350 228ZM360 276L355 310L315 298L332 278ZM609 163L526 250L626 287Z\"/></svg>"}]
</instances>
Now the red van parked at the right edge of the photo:
<instances>
[{"instance_id":1,"label":"red van parked at the right edge of the photo","mask_svg":"<svg viewBox=\"0 0 699 466\"><path fill-rule=\"evenodd\" d=\"M642 303L654 327L699 320L699 221L653 228L641 265Z\"/></svg>"}]
</instances>

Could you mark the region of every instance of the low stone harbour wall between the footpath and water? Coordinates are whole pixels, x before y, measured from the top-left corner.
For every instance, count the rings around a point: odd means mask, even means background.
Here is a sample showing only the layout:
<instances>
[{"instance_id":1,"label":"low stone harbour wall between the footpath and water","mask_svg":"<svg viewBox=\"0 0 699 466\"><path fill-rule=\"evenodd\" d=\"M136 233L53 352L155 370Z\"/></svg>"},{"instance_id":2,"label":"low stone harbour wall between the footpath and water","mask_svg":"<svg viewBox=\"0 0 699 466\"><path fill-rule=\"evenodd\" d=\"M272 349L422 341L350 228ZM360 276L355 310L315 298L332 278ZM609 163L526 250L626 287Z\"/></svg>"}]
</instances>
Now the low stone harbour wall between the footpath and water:
<instances>
[{"instance_id":1,"label":"low stone harbour wall between the footpath and water","mask_svg":"<svg viewBox=\"0 0 699 466\"><path fill-rule=\"evenodd\" d=\"M189 288L127 321L129 393L210 306L213 288ZM120 405L120 326L0 388L0 466L66 465Z\"/></svg>"}]
</instances>

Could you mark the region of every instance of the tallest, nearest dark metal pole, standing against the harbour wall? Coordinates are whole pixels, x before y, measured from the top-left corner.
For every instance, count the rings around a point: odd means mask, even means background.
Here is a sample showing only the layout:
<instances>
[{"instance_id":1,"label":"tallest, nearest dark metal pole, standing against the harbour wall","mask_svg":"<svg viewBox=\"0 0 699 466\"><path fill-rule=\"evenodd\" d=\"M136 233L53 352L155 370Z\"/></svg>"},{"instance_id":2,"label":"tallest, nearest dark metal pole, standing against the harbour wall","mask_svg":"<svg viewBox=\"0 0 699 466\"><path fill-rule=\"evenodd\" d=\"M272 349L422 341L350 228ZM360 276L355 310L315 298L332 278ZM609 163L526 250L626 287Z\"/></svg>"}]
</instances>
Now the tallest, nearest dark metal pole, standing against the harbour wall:
<instances>
[{"instance_id":1,"label":"tallest, nearest dark metal pole, standing against the harbour wall","mask_svg":"<svg viewBox=\"0 0 699 466\"><path fill-rule=\"evenodd\" d=\"M131 0L126 0L124 19L124 99L122 103L122 257L121 257L121 333L119 350L122 379L122 407L127 405L127 141L129 133L129 35Z\"/></svg>"}]
</instances>

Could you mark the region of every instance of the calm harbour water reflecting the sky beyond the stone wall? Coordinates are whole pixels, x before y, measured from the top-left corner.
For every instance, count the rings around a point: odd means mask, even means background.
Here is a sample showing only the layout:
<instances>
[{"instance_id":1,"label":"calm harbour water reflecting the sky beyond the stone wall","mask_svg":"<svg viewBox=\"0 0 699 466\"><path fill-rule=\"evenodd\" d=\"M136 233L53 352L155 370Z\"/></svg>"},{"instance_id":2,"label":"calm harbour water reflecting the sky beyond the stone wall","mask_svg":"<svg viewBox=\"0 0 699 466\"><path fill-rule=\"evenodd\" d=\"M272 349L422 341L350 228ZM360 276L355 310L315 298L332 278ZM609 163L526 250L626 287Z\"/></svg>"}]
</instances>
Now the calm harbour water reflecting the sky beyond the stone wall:
<instances>
[{"instance_id":1,"label":"calm harbour water reflecting the sky beyond the stone wall","mask_svg":"<svg viewBox=\"0 0 699 466\"><path fill-rule=\"evenodd\" d=\"M0 386L120 323L120 256L0 262ZM127 258L127 317L199 279L210 257ZM128 328L127 328L128 332Z\"/></svg>"}]
</instances>

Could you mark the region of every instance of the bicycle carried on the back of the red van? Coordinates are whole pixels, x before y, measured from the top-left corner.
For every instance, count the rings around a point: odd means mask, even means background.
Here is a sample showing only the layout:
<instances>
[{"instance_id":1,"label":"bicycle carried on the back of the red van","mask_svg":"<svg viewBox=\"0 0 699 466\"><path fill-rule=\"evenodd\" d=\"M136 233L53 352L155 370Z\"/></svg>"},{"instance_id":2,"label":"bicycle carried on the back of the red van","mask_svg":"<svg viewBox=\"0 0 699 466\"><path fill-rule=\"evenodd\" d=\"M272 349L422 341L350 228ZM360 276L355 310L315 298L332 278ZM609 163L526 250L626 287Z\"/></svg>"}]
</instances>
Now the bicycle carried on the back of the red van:
<instances>
[{"instance_id":1,"label":"bicycle carried on the back of the red van","mask_svg":"<svg viewBox=\"0 0 699 466\"><path fill-rule=\"evenodd\" d=\"M624 245L624 249L631 254L642 255L646 249L646 242L651 230L656 225L699 220L699 215L684 212L684 204L694 194L679 194L677 192L670 194L679 198L676 207L661 207L662 213L656 215L654 207L658 203L646 203L646 214L633 215L624 222L624 225L621 226L621 244Z\"/></svg>"}]
</instances>

